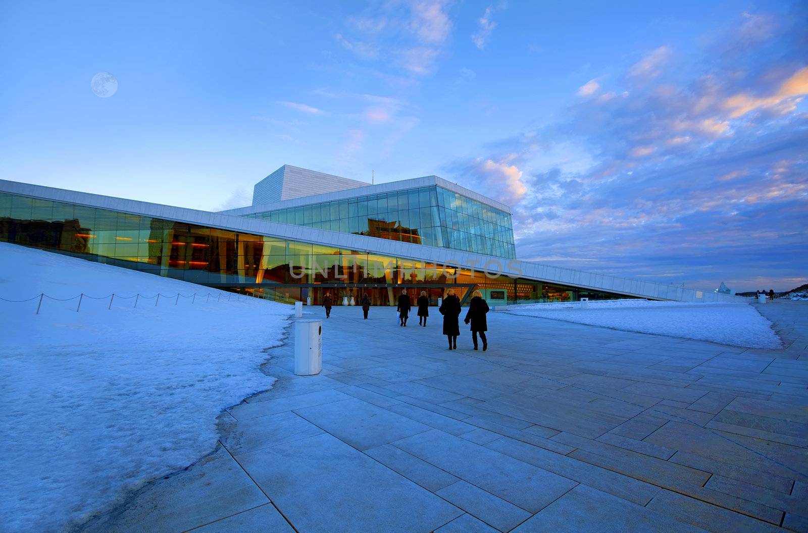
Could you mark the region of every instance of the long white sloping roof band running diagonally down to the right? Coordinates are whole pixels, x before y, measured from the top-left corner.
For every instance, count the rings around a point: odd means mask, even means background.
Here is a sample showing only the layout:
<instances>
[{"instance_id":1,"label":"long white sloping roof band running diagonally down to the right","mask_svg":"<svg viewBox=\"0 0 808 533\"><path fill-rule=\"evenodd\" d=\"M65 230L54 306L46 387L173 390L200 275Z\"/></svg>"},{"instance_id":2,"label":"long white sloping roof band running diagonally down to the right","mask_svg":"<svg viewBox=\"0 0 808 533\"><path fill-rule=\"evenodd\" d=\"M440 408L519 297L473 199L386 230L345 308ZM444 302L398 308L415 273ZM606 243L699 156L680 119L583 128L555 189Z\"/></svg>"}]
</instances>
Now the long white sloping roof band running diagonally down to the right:
<instances>
[{"instance_id":1,"label":"long white sloping roof band running diagonally down to the right","mask_svg":"<svg viewBox=\"0 0 808 533\"><path fill-rule=\"evenodd\" d=\"M280 237L324 246L335 246L348 250L362 250L371 254L383 254L415 261L436 262L457 267L475 268L478 271L486 270L487 267L489 271L501 271L504 275L549 283L562 283L597 291L617 292L628 296L640 296L654 300L735 303L749 301L749 299L743 298L742 296L731 296L712 291L697 291L696 289L675 287L673 285L654 283L640 279L628 279L612 275L576 271L570 268L553 267L537 262L508 260L490 255L436 248L434 246L412 244L410 242L389 241L376 237L355 235L353 233L339 233L325 229L279 224L277 222L243 218L242 216L232 216L225 213L176 208L162 204L149 204L148 202L139 202L137 200L93 195L86 192L66 191L65 189L43 187L28 183L0 180L0 191L109 209L111 211L127 212L133 215L176 220L193 225L266 235L268 237Z\"/></svg>"}]
</instances>

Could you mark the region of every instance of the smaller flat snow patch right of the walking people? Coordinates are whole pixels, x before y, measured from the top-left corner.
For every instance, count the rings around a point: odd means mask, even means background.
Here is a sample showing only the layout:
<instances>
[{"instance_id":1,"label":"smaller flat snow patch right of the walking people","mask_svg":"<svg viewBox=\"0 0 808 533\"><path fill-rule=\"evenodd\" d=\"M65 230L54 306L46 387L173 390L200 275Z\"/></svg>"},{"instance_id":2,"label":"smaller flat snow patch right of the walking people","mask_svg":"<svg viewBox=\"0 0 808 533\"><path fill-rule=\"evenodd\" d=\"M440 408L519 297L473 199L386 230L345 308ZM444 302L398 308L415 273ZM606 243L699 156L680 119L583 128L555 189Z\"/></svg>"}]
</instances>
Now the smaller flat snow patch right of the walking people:
<instances>
[{"instance_id":1,"label":"smaller flat snow patch right of the walking people","mask_svg":"<svg viewBox=\"0 0 808 533\"><path fill-rule=\"evenodd\" d=\"M508 313L600 325L640 333L694 338L750 348L781 348L772 323L749 304L601 300L510 306Z\"/></svg>"}]
</instances>

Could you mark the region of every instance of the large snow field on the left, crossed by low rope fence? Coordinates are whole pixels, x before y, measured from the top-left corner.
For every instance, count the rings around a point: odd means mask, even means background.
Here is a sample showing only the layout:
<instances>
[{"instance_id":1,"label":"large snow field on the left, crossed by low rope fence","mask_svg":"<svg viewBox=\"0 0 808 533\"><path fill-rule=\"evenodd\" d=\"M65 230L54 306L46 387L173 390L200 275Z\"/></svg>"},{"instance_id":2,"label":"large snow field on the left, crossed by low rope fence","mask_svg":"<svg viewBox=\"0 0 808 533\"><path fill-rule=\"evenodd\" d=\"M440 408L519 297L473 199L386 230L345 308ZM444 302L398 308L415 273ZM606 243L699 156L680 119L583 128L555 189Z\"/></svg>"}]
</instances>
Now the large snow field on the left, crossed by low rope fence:
<instances>
[{"instance_id":1,"label":"large snow field on the left, crossed by low rope fence","mask_svg":"<svg viewBox=\"0 0 808 533\"><path fill-rule=\"evenodd\" d=\"M213 450L221 409L271 388L259 365L292 308L0 243L2 531L63 531ZM179 298L176 294L191 296ZM173 298L171 296L174 296ZM234 298L234 295L231 296ZM193 301L193 304L191 304Z\"/></svg>"}]
</instances>

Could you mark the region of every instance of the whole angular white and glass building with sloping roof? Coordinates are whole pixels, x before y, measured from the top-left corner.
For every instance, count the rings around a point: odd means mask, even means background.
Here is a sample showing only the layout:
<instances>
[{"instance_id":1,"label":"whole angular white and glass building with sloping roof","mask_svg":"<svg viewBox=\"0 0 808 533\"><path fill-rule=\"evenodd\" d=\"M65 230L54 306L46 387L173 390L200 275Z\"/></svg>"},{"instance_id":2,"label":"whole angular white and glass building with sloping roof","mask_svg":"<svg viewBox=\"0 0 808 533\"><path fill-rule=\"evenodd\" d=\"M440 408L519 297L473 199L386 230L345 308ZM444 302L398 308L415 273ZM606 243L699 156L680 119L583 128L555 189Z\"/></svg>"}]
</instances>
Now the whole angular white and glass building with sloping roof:
<instances>
[{"instance_id":1,"label":"whole angular white and glass building with sloping roof","mask_svg":"<svg viewBox=\"0 0 808 533\"><path fill-rule=\"evenodd\" d=\"M403 287L433 302L448 287L494 304L734 300L520 261L511 209L437 176L369 185L284 165L255 185L252 205L225 212L0 180L0 241L312 304L326 292L393 304Z\"/></svg>"}]
</instances>

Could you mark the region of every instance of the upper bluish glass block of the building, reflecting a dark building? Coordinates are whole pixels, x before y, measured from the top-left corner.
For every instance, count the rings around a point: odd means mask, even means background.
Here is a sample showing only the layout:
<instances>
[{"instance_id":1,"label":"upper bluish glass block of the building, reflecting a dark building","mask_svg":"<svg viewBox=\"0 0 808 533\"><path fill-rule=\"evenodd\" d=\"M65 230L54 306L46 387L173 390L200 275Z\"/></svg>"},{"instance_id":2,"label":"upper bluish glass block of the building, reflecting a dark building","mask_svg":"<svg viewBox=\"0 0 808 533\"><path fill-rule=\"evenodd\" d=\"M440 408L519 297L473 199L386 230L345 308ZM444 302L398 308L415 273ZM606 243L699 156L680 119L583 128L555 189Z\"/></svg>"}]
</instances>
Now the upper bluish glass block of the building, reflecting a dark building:
<instances>
[{"instance_id":1,"label":"upper bluish glass block of the building, reflecting a dark building","mask_svg":"<svg viewBox=\"0 0 808 533\"><path fill-rule=\"evenodd\" d=\"M246 216L500 258L516 258L509 213L437 186L358 196Z\"/></svg>"}]
</instances>

